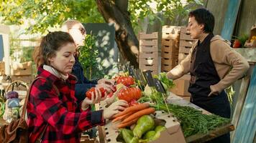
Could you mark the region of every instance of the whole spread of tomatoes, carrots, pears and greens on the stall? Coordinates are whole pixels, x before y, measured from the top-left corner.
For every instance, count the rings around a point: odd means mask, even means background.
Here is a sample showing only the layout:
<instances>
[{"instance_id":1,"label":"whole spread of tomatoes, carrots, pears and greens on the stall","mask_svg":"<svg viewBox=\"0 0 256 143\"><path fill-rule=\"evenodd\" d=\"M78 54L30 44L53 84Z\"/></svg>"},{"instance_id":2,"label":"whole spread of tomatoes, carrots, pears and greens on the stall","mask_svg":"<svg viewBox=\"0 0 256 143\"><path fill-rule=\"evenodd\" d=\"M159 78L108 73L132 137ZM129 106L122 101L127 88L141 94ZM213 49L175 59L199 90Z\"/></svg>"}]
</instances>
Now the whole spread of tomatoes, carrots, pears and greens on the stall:
<instances>
[{"instance_id":1,"label":"whole spread of tomatoes, carrots, pears and greens on the stall","mask_svg":"<svg viewBox=\"0 0 256 143\"><path fill-rule=\"evenodd\" d=\"M173 81L167 78L166 73L154 75L153 78L160 80L166 93L158 92L155 87L149 86L142 92L140 80L129 76L115 77L116 84L122 84L122 87L118 86L121 89L117 92L116 99L129 103L129 107L111 119L111 123L116 125L119 132L117 142L151 142L159 138L160 132L166 128L155 124L155 111L172 113L180 122L184 137L205 134L230 122L229 119L215 114L202 114L192 107L167 104L165 101L169 94L168 89L175 86Z\"/></svg>"}]
</instances>

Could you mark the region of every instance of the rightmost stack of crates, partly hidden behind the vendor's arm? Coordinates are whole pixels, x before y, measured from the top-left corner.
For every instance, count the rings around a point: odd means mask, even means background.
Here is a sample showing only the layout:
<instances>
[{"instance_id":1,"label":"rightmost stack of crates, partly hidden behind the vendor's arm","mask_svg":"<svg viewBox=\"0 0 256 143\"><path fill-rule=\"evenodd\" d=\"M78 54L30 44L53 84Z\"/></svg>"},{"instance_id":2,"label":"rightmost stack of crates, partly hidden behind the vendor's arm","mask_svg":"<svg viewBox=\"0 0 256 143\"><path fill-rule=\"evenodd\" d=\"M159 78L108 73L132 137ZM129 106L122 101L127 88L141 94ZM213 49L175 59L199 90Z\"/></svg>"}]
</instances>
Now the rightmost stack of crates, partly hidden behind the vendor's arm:
<instances>
[{"instance_id":1,"label":"rightmost stack of crates, partly hidden behind the vendor's arm","mask_svg":"<svg viewBox=\"0 0 256 143\"><path fill-rule=\"evenodd\" d=\"M178 63L188 56L191 47L196 40L191 39L190 34L188 34L186 27L180 28L180 41L179 41L179 51L178 51ZM183 99L190 100L191 94L188 92L189 81L191 76L189 74L180 77L179 79L174 80L175 87L170 91L174 94L177 94Z\"/></svg>"}]
</instances>

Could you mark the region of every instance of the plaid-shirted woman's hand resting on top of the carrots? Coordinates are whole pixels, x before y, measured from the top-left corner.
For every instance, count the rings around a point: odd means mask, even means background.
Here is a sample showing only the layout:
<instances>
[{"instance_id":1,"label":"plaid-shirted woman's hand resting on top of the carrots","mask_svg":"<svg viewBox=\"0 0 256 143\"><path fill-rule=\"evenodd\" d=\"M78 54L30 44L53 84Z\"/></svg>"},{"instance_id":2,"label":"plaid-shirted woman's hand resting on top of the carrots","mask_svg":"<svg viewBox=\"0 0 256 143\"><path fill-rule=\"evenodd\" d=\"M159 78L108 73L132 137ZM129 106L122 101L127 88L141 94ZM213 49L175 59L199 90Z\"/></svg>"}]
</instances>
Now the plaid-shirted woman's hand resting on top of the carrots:
<instances>
[{"instance_id":1,"label":"plaid-shirted woman's hand resting on top of the carrots","mask_svg":"<svg viewBox=\"0 0 256 143\"><path fill-rule=\"evenodd\" d=\"M128 107L128 104L124 100L118 100L111 104L109 107L104 109L103 111L103 117L104 119L110 119L113 117L115 114L124 111L124 109Z\"/></svg>"}]
</instances>

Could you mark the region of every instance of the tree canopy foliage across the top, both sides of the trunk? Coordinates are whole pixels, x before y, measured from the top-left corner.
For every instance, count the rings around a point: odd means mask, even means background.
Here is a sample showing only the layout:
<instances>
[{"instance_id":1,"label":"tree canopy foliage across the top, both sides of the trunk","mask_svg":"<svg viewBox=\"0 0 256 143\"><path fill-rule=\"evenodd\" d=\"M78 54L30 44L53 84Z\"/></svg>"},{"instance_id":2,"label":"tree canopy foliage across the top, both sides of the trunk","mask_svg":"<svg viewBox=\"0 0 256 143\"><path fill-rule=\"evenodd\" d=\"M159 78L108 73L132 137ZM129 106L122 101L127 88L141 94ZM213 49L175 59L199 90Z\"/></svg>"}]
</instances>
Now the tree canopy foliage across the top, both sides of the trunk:
<instances>
[{"instance_id":1,"label":"tree canopy foliage across the top, both sides of the trunk","mask_svg":"<svg viewBox=\"0 0 256 143\"><path fill-rule=\"evenodd\" d=\"M50 27L57 27L67 19L77 19L83 23L104 22L96 1L9 0L1 1L0 4L2 23L24 24L24 19L31 20L26 33L45 33ZM202 0L187 0L186 4L180 0L129 0L128 4L127 10L135 31L140 29L139 22L145 17L148 17L150 24L157 19L162 24L163 19L187 21L188 11L203 5ZM155 9L152 9L153 5Z\"/></svg>"}]
</instances>

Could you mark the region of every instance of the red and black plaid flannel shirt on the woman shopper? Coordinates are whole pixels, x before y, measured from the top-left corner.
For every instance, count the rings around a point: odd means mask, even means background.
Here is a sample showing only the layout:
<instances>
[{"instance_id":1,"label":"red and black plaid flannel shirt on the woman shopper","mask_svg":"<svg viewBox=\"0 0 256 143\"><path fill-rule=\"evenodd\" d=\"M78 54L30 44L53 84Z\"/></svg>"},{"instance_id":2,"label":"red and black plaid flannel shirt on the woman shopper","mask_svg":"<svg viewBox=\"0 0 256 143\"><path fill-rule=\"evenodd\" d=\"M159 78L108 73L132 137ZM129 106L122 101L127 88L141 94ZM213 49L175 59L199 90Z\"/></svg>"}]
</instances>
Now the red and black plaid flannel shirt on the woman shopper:
<instances>
[{"instance_id":1,"label":"red and black plaid flannel shirt on the woman shopper","mask_svg":"<svg viewBox=\"0 0 256 143\"><path fill-rule=\"evenodd\" d=\"M105 123L102 110L81 110L76 103L76 78L67 80L55 77L49 71L38 68L37 79L31 87L27 103L29 142L35 142L47 126L42 142L80 142L81 132ZM54 84L58 91L52 86ZM58 94L59 92L59 94Z\"/></svg>"}]
</instances>

